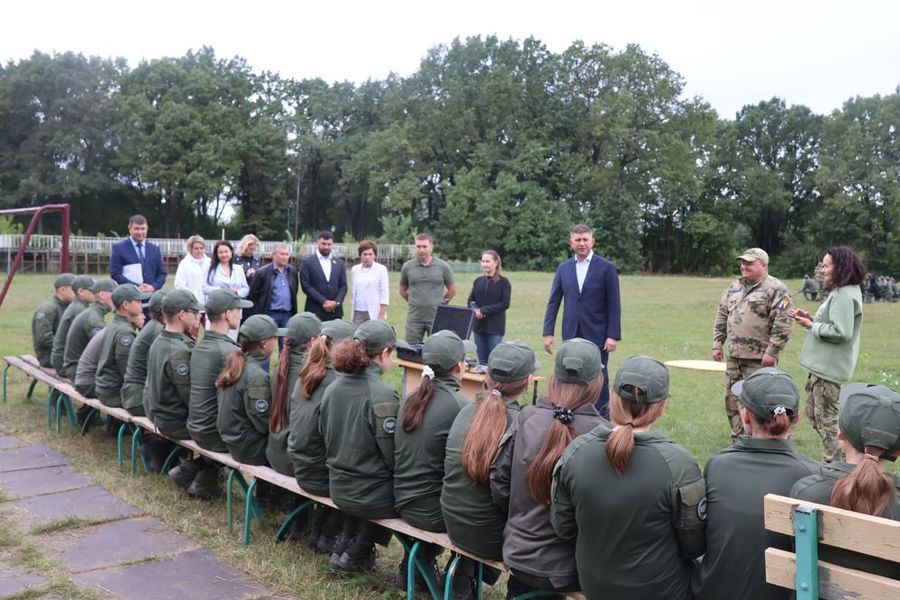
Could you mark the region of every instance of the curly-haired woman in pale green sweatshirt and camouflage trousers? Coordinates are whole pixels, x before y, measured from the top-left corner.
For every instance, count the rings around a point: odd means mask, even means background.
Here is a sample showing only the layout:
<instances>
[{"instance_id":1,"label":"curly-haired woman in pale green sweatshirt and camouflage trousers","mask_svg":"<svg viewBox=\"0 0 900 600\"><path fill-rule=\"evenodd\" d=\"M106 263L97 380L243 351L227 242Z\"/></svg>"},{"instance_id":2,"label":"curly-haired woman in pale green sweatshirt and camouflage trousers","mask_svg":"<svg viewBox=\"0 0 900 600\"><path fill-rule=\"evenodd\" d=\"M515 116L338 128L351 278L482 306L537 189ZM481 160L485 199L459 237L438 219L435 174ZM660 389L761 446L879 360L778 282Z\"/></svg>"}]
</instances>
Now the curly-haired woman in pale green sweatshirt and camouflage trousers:
<instances>
[{"instance_id":1,"label":"curly-haired woman in pale green sweatshirt and camouflage trousers","mask_svg":"<svg viewBox=\"0 0 900 600\"><path fill-rule=\"evenodd\" d=\"M862 331L862 291L866 267L847 246L829 248L822 259L828 296L813 317L803 309L790 315L807 329L800 366L806 379L806 416L822 438L822 460L840 459L837 443L838 395L850 379L859 357Z\"/></svg>"}]
</instances>

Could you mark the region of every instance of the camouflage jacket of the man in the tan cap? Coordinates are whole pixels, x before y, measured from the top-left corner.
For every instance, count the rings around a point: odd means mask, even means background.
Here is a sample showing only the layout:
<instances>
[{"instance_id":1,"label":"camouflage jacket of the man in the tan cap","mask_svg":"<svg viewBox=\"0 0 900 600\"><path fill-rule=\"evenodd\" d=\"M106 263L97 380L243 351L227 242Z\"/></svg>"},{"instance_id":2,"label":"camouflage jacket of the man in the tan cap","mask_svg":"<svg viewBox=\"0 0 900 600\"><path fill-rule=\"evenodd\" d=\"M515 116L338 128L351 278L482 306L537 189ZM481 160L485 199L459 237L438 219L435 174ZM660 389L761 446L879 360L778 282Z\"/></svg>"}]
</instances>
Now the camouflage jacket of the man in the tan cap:
<instances>
[{"instance_id":1,"label":"camouflage jacket of the man in the tan cap","mask_svg":"<svg viewBox=\"0 0 900 600\"><path fill-rule=\"evenodd\" d=\"M794 325L787 314L790 307L790 292L778 279L767 276L749 290L735 279L722 293L716 311L713 349L721 349L727 340L732 358L778 356Z\"/></svg>"}]
</instances>

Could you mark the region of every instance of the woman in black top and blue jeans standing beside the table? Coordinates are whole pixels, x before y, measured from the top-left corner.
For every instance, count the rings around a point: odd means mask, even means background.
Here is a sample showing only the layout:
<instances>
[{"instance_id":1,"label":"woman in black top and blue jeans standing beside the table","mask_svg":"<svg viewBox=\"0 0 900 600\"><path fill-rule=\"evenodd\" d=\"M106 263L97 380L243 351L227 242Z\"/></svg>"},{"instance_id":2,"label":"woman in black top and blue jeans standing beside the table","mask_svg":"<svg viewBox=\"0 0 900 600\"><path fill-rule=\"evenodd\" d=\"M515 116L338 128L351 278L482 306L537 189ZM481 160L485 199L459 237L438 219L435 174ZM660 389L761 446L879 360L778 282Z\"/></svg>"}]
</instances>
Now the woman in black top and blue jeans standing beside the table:
<instances>
[{"instance_id":1,"label":"woman in black top and blue jeans standing beside the table","mask_svg":"<svg viewBox=\"0 0 900 600\"><path fill-rule=\"evenodd\" d=\"M494 250L481 253L481 270L484 275L472 282L469 307L475 309L475 346L478 348L478 364L486 365L488 357L503 340L506 333L506 311L512 286L509 279L500 274L500 255Z\"/></svg>"}]
</instances>

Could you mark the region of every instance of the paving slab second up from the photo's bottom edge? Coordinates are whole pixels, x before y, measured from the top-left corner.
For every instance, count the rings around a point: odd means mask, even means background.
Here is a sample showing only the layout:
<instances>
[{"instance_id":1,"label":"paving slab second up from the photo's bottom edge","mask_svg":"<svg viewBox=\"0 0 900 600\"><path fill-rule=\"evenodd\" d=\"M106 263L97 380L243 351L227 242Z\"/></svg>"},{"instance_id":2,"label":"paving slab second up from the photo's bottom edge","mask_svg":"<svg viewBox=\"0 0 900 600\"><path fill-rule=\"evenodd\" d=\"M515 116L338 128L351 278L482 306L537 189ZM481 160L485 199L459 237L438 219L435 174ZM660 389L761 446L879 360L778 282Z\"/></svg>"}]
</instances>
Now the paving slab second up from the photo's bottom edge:
<instances>
[{"instance_id":1,"label":"paving slab second up from the photo's bottom edge","mask_svg":"<svg viewBox=\"0 0 900 600\"><path fill-rule=\"evenodd\" d=\"M72 573L196 550L190 538L156 519L135 518L60 531L46 547Z\"/></svg>"}]
</instances>

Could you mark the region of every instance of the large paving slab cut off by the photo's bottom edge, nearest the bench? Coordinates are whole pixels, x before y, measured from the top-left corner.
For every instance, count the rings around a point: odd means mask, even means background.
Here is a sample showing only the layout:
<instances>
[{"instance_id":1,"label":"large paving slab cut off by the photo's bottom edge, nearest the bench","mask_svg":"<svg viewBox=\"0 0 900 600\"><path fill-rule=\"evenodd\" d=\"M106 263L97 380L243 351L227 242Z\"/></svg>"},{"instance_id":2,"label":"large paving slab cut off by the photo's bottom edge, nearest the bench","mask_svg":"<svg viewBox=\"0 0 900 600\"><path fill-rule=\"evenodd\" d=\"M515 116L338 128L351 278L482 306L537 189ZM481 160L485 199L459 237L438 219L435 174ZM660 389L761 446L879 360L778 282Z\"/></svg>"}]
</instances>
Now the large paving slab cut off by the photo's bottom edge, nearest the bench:
<instances>
[{"instance_id":1,"label":"large paving slab cut off by the photo's bottom edge, nearest the bench","mask_svg":"<svg viewBox=\"0 0 900 600\"><path fill-rule=\"evenodd\" d=\"M77 573L73 578L83 587L98 586L128 600L242 600L265 595L271 597L266 588L240 571L217 561L205 549L160 561Z\"/></svg>"}]
</instances>

